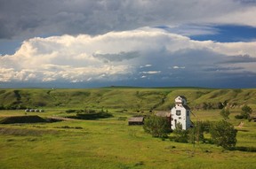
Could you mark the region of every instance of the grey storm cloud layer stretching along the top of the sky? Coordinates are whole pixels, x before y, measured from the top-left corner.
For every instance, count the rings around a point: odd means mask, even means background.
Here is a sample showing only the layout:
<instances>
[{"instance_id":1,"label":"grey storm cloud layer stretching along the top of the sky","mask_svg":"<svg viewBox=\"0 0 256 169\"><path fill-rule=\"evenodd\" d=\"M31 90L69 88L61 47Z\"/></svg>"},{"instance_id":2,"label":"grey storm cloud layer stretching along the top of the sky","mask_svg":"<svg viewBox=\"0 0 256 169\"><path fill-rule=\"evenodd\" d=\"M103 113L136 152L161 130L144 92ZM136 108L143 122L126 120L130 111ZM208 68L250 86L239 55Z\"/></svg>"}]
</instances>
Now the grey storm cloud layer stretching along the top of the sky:
<instances>
[{"instance_id":1,"label":"grey storm cloud layer stretching along the top of the sky","mask_svg":"<svg viewBox=\"0 0 256 169\"><path fill-rule=\"evenodd\" d=\"M138 27L222 22L225 15L250 12L253 5L231 0L1 0L0 38L97 35ZM253 25L246 16L240 21ZM229 16L228 20L237 22Z\"/></svg>"}]
</instances>

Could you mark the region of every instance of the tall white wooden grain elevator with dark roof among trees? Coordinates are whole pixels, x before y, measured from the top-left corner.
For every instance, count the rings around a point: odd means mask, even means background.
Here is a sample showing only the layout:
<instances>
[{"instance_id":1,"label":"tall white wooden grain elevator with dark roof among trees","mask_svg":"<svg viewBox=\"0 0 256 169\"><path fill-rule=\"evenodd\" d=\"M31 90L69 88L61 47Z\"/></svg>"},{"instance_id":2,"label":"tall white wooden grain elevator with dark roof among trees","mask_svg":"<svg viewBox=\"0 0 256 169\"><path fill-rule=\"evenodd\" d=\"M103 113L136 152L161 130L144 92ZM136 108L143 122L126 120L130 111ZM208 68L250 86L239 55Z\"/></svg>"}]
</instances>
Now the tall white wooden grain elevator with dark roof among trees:
<instances>
[{"instance_id":1,"label":"tall white wooden grain elevator with dark roof among trees","mask_svg":"<svg viewBox=\"0 0 256 169\"><path fill-rule=\"evenodd\" d=\"M175 98L175 106L171 110L171 127L172 130L180 123L183 130L191 127L190 108L187 105L187 98L185 96L177 96Z\"/></svg>"}]
</instances>

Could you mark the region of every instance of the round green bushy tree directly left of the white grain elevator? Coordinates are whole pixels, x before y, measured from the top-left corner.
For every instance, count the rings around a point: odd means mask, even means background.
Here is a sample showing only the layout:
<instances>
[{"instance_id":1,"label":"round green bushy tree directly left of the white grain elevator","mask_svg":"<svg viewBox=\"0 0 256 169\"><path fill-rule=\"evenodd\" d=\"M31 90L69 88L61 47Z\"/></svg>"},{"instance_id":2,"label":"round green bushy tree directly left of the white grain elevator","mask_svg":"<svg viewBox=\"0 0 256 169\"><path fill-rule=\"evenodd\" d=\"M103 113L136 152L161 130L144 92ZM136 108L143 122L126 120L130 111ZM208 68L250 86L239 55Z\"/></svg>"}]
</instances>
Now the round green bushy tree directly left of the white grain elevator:
<instances>
[{"instance_id":1,"label":"round green bushy tree directly left of the white grain elevator","mask_svg":"<svg viewBox=\"0 0 256 169\"><path fill-rule=\"evenodd\" d=\"M143 128L153 137L165 138L171 132L168 120L156 115L145 119Z\"/></svg>"}]
</instances>

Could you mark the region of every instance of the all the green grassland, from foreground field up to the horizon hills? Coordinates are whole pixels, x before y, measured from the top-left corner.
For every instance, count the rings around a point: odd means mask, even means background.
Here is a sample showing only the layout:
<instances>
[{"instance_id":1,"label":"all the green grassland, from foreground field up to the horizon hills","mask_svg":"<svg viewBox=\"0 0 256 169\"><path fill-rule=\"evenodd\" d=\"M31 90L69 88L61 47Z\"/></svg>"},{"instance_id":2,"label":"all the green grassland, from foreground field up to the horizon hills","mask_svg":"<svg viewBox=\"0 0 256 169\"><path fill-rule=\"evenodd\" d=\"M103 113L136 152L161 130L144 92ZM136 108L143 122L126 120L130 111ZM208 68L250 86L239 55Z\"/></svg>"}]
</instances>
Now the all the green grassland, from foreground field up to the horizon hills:
<instances>
[{"instance_id":1,"label":"all the green grassland, from foreground field up to the horizon hills","mask_svg":"<svg viewBox=\"0 0 256 169\"><path fill-rule=\"evenodd\" d=\"M172 142L152 137L142 126L128 126L133 116L170 111L173 99L179 95L187 96L195 114L192 121L220 120L220 104L226 103L230 107L228 121L238 130L236 149L224 150L203 142ZM0 124L0 166L255 168L256 123L235 119L244 104L252 107L255 116L256 89L1 89L0 121L11 122ZM34 118L24 123L10 118L24 116ZM36 121L35 117L45 121Z\"/></svg>"}]
</instances>

